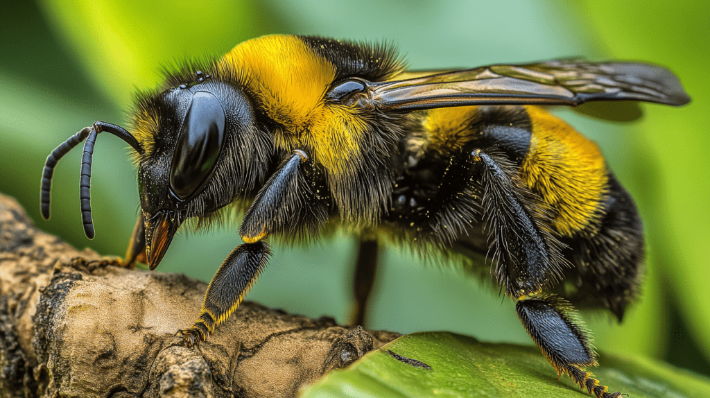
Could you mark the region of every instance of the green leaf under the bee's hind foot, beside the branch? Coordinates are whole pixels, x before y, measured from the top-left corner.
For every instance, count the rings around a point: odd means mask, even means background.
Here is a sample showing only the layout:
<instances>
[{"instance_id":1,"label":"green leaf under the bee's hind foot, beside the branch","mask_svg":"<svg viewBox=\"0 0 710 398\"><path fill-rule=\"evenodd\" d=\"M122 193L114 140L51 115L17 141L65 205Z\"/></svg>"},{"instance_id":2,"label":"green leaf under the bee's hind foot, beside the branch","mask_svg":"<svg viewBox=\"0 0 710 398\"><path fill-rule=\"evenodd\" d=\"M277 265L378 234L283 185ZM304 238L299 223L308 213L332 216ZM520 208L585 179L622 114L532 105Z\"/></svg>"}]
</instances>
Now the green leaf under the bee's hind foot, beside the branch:
<instances>
[{"instance_id":1,"label":"green leaf under the bee's hind foot, beside the branch","mask_svg":"<svg viewBox=\"0 0 710 398\"><path fill-rule=\"evenodd\" d=\"M397 360L390 352L431 369ZM594 372L610 391L633 398L707 397L710 380L655 360L603 355ZM301 391L322 397L592 397L557 372L535 347L482 343L449 332L402 336Z\"/></svg>"}]
</instances>

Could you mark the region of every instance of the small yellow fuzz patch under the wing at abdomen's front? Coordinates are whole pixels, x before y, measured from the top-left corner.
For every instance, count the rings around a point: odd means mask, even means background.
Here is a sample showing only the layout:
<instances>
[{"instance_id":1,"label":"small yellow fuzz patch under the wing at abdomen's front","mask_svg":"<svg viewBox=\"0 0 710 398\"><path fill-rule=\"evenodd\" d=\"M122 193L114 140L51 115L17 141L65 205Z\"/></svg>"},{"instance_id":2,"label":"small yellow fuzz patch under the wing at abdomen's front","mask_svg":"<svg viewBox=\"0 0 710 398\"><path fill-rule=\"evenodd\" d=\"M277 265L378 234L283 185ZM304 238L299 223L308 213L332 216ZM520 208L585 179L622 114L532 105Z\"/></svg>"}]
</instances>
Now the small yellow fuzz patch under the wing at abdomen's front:
<instances>
[{"instance_id":1,"label":"small yellow fuzz patch under the wing at abdomen's front","mask_svg":"<svg viewBox=\"0 0 710 398\"><path fill-rule=\"evenodd\" d=\"M447 153L461 149L471 142L476 131L471 129L471 118L476 106L432 109L427 113L424 129L427 132L427 149Z\"/></svg>"}]
</instances>

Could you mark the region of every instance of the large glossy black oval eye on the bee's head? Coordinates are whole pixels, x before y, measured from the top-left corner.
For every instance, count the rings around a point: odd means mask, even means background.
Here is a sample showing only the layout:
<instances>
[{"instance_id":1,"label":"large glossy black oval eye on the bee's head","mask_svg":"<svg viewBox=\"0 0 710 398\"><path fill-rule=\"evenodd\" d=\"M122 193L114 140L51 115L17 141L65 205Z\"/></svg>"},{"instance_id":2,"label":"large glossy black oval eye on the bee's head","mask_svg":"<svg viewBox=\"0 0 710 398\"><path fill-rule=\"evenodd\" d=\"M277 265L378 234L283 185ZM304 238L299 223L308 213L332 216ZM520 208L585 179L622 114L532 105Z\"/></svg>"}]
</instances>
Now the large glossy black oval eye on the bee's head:
<instances>
[{"instance_id":1,"label":"large glossy black oval eye on the bee's head","mask_svg":"<svg viewBox=\"0 0 710 398\"><path fill-rule=\"evenodd\" d=\"M224 109L210 92L196 92L175 147L170 187L187 199L207 181L224 145Z\"/></svg>"}]
</instances>

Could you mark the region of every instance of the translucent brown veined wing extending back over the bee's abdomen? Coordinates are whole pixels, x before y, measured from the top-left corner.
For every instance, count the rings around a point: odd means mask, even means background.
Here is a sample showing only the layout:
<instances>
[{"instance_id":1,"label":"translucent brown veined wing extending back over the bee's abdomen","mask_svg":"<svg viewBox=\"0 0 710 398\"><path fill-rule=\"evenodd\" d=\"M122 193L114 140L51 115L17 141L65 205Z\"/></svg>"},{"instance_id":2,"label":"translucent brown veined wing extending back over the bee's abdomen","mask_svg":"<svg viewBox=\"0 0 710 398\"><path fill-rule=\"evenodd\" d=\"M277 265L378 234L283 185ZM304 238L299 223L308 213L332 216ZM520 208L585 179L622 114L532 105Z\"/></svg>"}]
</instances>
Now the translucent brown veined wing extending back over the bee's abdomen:
<instances>
[{"instance_id":1,"label":"translucent brown veined wing extending back over the bee's abdomen","mask_svg":"<svg viewBox=\"0 0 710 398\"><path fill-rule=\"evenodd\" d=\"M628 100L683 105L690 101L678 78L663 67L584 60L491 65L366 82L364 94L361 104L386 112L481 104L577 106L587 101Z\"/></svg>"}]
</instances>

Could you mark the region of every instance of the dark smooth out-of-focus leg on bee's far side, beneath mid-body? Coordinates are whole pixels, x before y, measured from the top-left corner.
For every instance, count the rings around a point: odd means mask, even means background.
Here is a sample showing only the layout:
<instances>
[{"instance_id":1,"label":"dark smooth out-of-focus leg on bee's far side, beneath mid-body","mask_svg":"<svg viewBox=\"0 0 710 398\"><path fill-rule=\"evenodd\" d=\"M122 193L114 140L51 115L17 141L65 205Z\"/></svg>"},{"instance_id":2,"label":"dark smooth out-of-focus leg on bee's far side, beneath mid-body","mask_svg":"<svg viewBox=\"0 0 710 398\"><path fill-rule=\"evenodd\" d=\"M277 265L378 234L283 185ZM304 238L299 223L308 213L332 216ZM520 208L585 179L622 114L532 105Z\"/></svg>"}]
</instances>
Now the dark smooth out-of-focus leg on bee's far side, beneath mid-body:
<instances>
[{"instance_id":1,"label":"dark smooth out-of-focus leg on bee's far side, beneath mid-body","mask_svg":"<svg viewBox=\"0 0 710 398\"><path fill-rule=\"evenodd\" d=\"M367 316L367 302L370 298L372 285L375 282L377 270L377 241L363 238L357 252L355 275L353 279L353 292L355 296L355 309L352 314L351 324L365 326Z\"/></svg>"}]
</instances>

